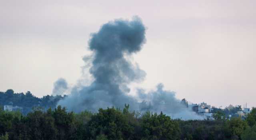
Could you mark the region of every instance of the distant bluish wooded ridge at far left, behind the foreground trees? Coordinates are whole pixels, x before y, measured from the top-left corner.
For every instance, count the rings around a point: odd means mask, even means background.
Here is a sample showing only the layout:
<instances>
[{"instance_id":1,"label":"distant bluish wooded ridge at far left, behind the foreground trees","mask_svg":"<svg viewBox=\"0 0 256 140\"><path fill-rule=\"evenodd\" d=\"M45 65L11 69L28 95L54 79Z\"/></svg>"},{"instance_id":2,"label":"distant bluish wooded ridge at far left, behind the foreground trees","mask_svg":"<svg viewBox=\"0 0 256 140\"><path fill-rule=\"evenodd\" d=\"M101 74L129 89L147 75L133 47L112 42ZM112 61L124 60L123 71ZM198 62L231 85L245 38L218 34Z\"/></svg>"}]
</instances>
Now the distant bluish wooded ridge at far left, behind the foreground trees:
<instances>
[{"instance_id":1,"label":"distant bluish wooded ridge at far left, behind the foreground trees","mask_svg":"<svg viewBox=\"0 0 256 140\"><path fill-rule=\"evenodd\" d=\"M35 97L30 91L24 93L14 93L12 89L6 92L0 92L0 107L4 105L20 106L23 114L27 114L33 107L55 108L58 101L66 97L66 95L50 96L46 95L42 98Z\"/></svg>"}]
</instances>

